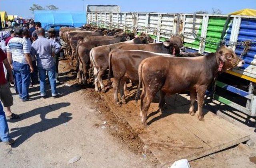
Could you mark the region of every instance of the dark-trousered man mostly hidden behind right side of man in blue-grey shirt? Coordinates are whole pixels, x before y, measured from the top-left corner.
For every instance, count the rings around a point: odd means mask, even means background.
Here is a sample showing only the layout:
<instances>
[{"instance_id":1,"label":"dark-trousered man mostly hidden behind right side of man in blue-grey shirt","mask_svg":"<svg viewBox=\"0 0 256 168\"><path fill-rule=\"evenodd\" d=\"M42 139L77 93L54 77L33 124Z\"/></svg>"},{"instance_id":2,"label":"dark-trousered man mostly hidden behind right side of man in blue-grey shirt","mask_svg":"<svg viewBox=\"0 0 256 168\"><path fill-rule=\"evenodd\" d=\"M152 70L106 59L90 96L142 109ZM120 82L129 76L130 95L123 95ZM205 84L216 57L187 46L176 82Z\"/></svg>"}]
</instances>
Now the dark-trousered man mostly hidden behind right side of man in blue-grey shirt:
<instances>
[{"instance_id":1,"label":"dark-trousered man mostly hidden behind right side of man in blue-grey shirt","mask_svg":"<svg viewBox=\"0 0 256 168\"><path fill-rule=\"evenodd\" d=\"M57 37L56 36L56 31L54 28L50 28L48 30L48 33L49 33L49 37L48 39L52 39L54 41L56 41L58 44L60 44L60 37ZM61 51L60 51L61 52ZM55 68L56 68L56 83L60 83L60 81L58 81L58 73L59 73L59 70L58 70L58 66L59 66L59 57L60 57L60 52L58 52L54 57L54 63L55 63Z\"/></svg>"}]
</instances>

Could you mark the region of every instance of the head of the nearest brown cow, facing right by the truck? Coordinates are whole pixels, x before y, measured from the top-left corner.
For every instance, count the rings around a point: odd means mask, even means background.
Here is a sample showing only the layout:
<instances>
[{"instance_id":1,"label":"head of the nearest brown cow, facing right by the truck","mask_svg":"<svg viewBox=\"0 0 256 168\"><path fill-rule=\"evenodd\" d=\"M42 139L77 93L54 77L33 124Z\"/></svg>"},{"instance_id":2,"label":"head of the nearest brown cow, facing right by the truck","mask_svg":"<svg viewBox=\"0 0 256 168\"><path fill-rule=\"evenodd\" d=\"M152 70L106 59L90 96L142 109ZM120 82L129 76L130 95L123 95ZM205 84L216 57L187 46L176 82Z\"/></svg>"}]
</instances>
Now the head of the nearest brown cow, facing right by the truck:
<instances>
[{"instance_id":1,"label":"head of the nearest brown cow, facing right by the truck","mask_svg":"<svg viewBox=\"0 0 256 168\"><path fill-rule=\"evenodd\" d=\"M229 70L235 66L244 66L244 60L237 57L236 53L226 46L220 47L220 49L216 52L216 57L218 59L217 62L219 62L219 71Z\"/></svg>"}]
</instances>

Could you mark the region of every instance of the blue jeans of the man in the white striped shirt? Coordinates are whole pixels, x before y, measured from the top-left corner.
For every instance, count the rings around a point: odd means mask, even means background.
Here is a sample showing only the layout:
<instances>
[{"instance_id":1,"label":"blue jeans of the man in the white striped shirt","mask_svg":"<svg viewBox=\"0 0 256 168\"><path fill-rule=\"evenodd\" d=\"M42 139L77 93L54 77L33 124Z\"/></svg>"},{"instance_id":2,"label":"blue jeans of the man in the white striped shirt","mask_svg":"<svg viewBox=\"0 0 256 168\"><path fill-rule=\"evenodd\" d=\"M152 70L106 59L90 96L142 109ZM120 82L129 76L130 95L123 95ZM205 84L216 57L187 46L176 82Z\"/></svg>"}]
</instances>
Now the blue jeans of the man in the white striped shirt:
<instances>
[{"instance_id":1,"label":"blue jeans of the man in the white striped shirt","mask_svg":"<svg viewBox=\"0 0 256 168\"><path fill-rule=\"evenodd\" d=\"M14 61L12 63L16 87L21 100L28 100L28 87L30 84L30 67L28 64L22 64Z\"/></svg>"}]
</instances>

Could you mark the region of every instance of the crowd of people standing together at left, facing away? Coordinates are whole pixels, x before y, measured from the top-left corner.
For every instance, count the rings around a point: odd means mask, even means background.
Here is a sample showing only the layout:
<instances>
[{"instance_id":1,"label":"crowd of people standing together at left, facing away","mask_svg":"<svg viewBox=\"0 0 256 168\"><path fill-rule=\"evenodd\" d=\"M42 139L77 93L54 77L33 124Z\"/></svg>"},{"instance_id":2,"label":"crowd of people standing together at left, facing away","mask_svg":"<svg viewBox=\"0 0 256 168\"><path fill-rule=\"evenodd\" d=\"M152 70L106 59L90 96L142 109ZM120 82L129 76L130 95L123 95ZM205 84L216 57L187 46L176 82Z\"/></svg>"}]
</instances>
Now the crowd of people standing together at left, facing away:
<instances>
[{"instance_id":1,"label":"crowd of people standing together at left, facing away","mask_svg":"<svg viewBox=\"0 0 256 168\"><path fill-rule=\"evenodd\" d=\"M52 97L59 96L58 60L62 52L60 39L54 28L45 30L40 22L30 24L11 23L11 31L0 31L0 139L10 145L7 119L18 119L12 113L13 98L10 87L15 88L22 102L31 101L29 87L40 84L41 98L46 98L46 77L50 83ZM38 78L39 77L39 78ZM7 119L6 119L7 118Z\"/></svg>"}]
</instances>

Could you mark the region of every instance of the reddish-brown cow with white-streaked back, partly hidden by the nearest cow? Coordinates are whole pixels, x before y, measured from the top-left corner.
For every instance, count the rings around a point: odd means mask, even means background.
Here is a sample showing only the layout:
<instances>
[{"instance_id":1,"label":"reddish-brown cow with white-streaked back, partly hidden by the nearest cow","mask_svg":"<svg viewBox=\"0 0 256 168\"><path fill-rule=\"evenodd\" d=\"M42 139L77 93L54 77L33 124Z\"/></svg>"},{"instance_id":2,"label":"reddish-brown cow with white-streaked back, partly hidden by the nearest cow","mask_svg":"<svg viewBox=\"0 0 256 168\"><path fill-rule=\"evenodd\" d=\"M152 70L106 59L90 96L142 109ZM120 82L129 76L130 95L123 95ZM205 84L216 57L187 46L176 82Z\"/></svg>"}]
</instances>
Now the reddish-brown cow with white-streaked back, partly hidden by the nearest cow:
<instances>
[{"instance_id":1,"label":"reddish-brown cow with white-streaked back, partly hidden by the nearest cow","mask_svg":"<svg viewBox=\"0 0 256 168\"><path fill-rule=\"evenodd\" d=\"M148 57L156 56L173 56L169 54L159 54L148 51L139 50L120 50L114 49L109 53L108 57L108 80L110 82L110 69L113 72L113 91L114 91L114 101L115 104L121 106L118 100L118 90L120 90L120 96L122 104L126 104L124 95L124 85L127 79L132 80L132 82L138 82L138 68L142 60Z\"/></svg>"}]
</instances>

